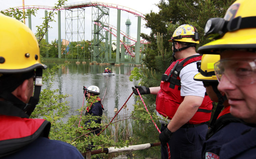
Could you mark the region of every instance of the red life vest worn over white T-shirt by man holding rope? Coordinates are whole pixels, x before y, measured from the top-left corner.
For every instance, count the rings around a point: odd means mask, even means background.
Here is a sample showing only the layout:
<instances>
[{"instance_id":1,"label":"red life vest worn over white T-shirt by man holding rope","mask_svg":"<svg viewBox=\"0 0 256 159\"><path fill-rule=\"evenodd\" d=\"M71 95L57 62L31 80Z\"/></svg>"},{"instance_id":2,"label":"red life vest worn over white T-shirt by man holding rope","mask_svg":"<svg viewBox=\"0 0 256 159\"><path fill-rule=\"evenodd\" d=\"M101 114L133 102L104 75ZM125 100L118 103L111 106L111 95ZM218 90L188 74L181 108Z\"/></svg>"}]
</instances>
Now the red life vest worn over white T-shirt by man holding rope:
<instances>
[{"instance_id":1,"label":"red life vest worn over white T-shirt by man holding rope","mask_svg":"<svg viewBox=\"0 0 256 159\"><path fill-rule=\"evenodd\" d=\"M201 55L193 55L188 58L179 59L173 62L165 71L165 78L160 84L160 90L156 99L156 110L168 119L172 119L178 107L183 102L181 96L181 78L179 76L181 69L189 63L201 60ZM171 72L171 74L170 74ZM170 74L170 75L169 75ZM195 115L188 121L190 124L199 124L209 121L211 118L212 101L209 96L204 96L203 102Z\"/></svg>"}]
</instances>

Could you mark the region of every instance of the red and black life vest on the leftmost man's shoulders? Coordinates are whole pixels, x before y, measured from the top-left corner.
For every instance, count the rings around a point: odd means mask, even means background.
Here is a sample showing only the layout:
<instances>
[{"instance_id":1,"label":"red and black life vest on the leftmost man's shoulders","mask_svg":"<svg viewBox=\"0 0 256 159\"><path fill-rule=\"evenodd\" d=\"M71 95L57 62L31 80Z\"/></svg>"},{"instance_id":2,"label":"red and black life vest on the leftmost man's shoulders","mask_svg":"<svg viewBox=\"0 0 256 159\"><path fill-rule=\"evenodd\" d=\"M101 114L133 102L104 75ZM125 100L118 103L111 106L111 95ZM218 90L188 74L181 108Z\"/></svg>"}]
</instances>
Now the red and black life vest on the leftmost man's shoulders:
<instances>
[{"instance_id":1,"label":"red and black life vest on the leftmost man's shoulders","mask_svg":"<svg viewBox=\"0 0 256 159\"><path fill-rule=\"evenodd\" d=\"M0 115L0 157L14 153L38 137L48 137L51 123L44 119Z\"/></svg>"}]
</instances>

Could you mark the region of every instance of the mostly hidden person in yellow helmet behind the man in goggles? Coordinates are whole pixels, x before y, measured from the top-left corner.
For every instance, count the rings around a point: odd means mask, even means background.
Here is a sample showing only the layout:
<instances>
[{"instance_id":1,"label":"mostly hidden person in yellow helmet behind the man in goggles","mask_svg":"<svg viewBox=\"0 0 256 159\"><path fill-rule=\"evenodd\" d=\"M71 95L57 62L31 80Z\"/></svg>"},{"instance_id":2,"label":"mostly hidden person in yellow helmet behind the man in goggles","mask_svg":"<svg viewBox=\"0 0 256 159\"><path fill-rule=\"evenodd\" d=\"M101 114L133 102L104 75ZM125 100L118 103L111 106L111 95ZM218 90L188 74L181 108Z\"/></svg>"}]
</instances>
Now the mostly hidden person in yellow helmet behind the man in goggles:
<instances>
[{"instance_id":1,"label":"mostly hidden person in yellow helmet behind the man in goggles","mask_svg":"<svg viewBox=\"0 0 256 159\"><path fill-rule=\"evenodd\" d=\"M220 55L204 54L202 61L198 65L199 73L194 76L194 80L202 81L206 88L206 93L212 101L218 102L210 128L206 134L206 141L203 145L202 158L219 158L221 146L233 139L236 139L250 126L242 123L230 114L230 105L227 97L217 89L218 80L214 73L214 64L220 59ZM222 110L224 106L224 109ZM222 110L222 111L221 111Z\"/></svg>"}]
</instances>

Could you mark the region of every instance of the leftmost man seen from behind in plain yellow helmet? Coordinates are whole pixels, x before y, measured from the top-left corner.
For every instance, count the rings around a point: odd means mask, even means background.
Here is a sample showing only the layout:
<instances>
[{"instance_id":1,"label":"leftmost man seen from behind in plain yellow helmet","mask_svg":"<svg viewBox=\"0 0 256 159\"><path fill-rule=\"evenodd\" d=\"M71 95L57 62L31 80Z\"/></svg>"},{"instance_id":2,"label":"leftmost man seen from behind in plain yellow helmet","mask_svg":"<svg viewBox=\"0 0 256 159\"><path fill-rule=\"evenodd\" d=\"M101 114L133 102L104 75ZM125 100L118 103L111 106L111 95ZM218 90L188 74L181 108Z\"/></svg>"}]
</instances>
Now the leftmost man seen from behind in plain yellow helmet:
<instances>
[{"instance_id":1,"label":"leftmost man seen from behind in plain yellow helmet","mask_svg":"<svg viewBox=\"0 0 256 159\"><path fill-rule=\"evenodd\" d=\"M29 118L46 65L25 24L1 13L0 21L0 158L83 158L75 147L48 139L49 121Z\"/></svg>"}]
</instances>

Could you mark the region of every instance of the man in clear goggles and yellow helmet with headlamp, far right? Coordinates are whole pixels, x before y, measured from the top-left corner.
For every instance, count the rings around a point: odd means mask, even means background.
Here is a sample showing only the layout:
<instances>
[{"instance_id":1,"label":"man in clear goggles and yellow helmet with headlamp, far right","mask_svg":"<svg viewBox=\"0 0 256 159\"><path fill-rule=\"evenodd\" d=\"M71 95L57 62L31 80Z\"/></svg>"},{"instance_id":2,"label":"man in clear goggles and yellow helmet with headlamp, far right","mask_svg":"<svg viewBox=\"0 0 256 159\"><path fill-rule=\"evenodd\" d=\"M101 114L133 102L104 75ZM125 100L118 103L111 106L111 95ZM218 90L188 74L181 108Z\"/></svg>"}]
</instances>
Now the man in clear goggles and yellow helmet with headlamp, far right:
<instances>
[{"instance_id":1,"label":"man in clear goggles and yellow helmet with headlamp, far right","mask_svg":"<svg viewBox=\"0 0 256 159\"><path fill-rule=\"evenodd\" d=\"M256 158L255 6L255 0L237 0L224 18L210 18L204 32L214 41L198 48L202 54L220 54L214 68L218 90L226 94L230 113L253 126L221 146L221 159Z\"/></svg>"}]
</instances>

